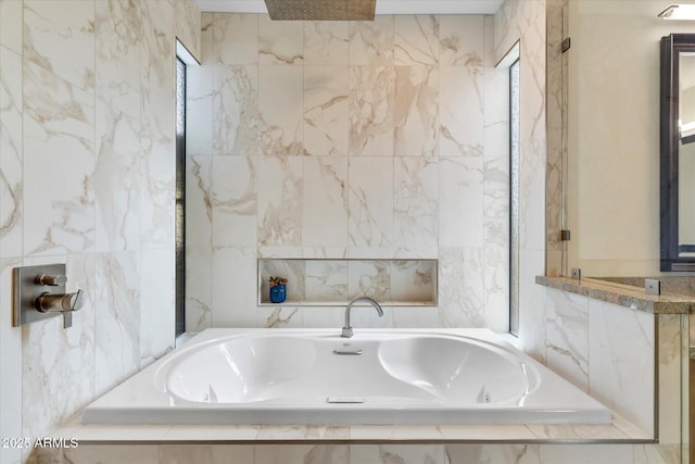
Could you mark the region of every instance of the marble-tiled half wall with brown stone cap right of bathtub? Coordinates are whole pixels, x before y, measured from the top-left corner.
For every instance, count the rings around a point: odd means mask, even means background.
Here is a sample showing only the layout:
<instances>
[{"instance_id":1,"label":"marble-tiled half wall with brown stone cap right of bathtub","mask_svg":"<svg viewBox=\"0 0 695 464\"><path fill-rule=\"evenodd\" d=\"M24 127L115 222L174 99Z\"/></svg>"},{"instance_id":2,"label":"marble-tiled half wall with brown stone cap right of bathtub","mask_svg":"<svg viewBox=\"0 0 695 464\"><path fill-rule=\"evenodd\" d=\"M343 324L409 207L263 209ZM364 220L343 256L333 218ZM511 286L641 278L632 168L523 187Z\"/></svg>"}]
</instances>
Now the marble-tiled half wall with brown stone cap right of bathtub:
<instances>
[{"instance_id":1,"label":"marble-tiled half wall with brown stone cap right of bathtub","mask_svg":"<svg viewBox=\"0 0 695 464\"><path fill-rule=\"evenodd\" d=\"M546 365L660 443L687 443L695 299L592 278L536 283L546 287Z\"/></svg>"}]
</instances>

